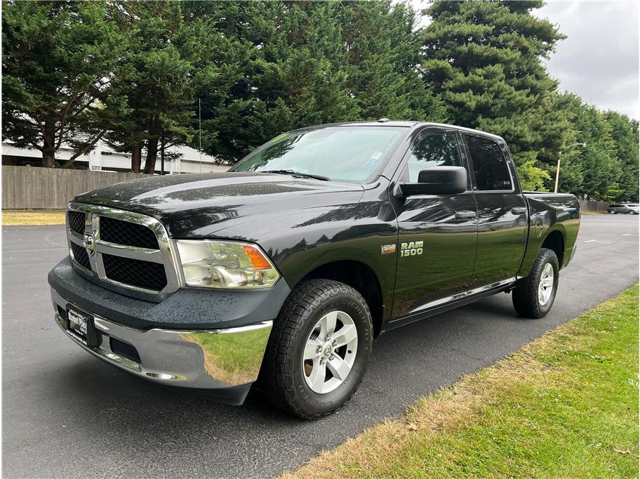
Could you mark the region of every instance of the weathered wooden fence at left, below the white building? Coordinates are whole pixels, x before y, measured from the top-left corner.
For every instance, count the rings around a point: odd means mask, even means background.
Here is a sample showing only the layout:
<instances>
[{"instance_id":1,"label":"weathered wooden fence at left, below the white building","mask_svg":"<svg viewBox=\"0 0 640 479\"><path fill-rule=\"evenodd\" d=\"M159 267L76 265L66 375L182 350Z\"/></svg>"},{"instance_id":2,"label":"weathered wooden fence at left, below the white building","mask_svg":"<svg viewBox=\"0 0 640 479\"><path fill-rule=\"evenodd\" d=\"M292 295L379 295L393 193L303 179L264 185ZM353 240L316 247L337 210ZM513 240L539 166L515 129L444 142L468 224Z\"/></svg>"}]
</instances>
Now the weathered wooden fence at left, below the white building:
<instances>
[{"instance_id":1,"label":"weathered wooden fence at left, below the white building","mask_svg":"<svg viewBox=\"0 0 640 479\"><path fill-rule=\"evenodd\" d=\"M144 176L149 175L2 166L2 208L64 209L75 195Z\"/></svg>"}]
</instances>

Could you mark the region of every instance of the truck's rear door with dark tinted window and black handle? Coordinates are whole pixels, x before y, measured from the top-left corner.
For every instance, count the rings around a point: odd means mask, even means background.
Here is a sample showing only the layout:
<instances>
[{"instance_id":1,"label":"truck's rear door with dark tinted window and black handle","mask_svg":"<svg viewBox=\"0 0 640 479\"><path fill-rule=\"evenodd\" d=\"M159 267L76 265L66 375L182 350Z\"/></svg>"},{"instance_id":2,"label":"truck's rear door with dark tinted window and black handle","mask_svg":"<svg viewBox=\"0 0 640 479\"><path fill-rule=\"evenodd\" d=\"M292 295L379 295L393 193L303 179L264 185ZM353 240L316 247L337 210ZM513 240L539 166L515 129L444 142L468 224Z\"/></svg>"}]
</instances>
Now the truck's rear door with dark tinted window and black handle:
<instances>
[{"instance_id":1,"label":"truck's rear door with dark tinted window and black handle","mask_svg":"<svg viewBox=\"0 0 640 479\"><path fill-rule=\"evenodd\" d=\"M478 247L470 289L511 280L527 240L526 199L504 142L465 133L478 205Z\"/></svg>"}]
</instances>

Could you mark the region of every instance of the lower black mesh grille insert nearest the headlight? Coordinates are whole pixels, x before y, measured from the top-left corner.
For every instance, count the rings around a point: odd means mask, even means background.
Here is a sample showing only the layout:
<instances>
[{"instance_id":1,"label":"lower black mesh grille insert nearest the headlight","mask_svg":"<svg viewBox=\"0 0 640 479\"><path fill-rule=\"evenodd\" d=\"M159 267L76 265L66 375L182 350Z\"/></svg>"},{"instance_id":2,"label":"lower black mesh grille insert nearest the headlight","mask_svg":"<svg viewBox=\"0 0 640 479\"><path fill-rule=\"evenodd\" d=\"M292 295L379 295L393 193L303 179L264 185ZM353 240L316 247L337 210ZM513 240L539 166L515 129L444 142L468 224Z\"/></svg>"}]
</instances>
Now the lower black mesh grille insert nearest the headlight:
<instances>
[{"instance_id":1,"label":"lower black mesh grille insert nearest the headlight","mask_svg":"<svg viewBox=\"0 0 640 479\"><path fill-rule=\"evenodd\" d=\"M100 221L103 218L100 218ZM112 254L102 254L102 262L105 264L105 275L109 280L152 291L160 291L167 284L164 265L160 263L124 258L124 256Z\"/></svg>"}]
</instances>

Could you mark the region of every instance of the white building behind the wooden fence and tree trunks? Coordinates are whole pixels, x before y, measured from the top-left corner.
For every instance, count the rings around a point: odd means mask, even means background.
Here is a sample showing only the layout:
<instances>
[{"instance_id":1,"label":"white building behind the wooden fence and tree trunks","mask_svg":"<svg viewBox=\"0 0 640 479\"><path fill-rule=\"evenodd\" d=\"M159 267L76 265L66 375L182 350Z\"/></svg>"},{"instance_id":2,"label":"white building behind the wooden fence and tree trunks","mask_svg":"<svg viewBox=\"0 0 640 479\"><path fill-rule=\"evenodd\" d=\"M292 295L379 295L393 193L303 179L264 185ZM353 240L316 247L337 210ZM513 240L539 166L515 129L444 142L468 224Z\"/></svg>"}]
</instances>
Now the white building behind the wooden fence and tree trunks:
<instances>
[{"instance_id":1,"label":"white building behind the wooden fence and tree trunks","mask_svg":"<svg viewBox=\"0 0 640 479\"><path fill-rule=\"evenodd\" d=\"M207 173L209 171L227 171L229 165L216 164L215 159L209 155L200 155L197 150L188 146L167 148L167 152L180 153L180 159L173 162L165 159L165 174L179 173ZM61 162L73 155L73 151L64 145L55 154L55 158ZM76 158L77 166L93 171L131 171L131 153L119 153L105 143L98 143L91 152ZM42 155L40 150L28 150L16 148L6 141L2 142L2 164L25 166L41 166ZM142 151L142 166L145 164L145 151ZM77 167L76 166L76 167ZM156 161L156 173L160 173L160 152Z\"/></svg>"}]
</instances>

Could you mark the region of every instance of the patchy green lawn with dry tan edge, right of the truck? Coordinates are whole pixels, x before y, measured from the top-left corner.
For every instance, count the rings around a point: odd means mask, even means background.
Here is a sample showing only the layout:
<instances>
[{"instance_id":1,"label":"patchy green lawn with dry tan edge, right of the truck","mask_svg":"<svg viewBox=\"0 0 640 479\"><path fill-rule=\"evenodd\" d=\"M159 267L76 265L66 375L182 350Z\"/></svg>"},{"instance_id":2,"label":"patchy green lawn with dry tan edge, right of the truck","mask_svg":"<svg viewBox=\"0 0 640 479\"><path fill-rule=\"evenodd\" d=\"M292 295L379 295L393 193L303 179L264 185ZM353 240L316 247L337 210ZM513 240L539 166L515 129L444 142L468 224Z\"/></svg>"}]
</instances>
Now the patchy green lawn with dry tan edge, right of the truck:
<instances>
[{"instance_id":1,"label":"patchy green lawn with dry tan edge, right of the truck","mask_svg":"<svg viewBox=\"0 0 640 479\"><path fill-rule=\"evenodd\" d=\"M636 285L290 476L638 477L638 300Z\"/></svg>"}]
</instances>

